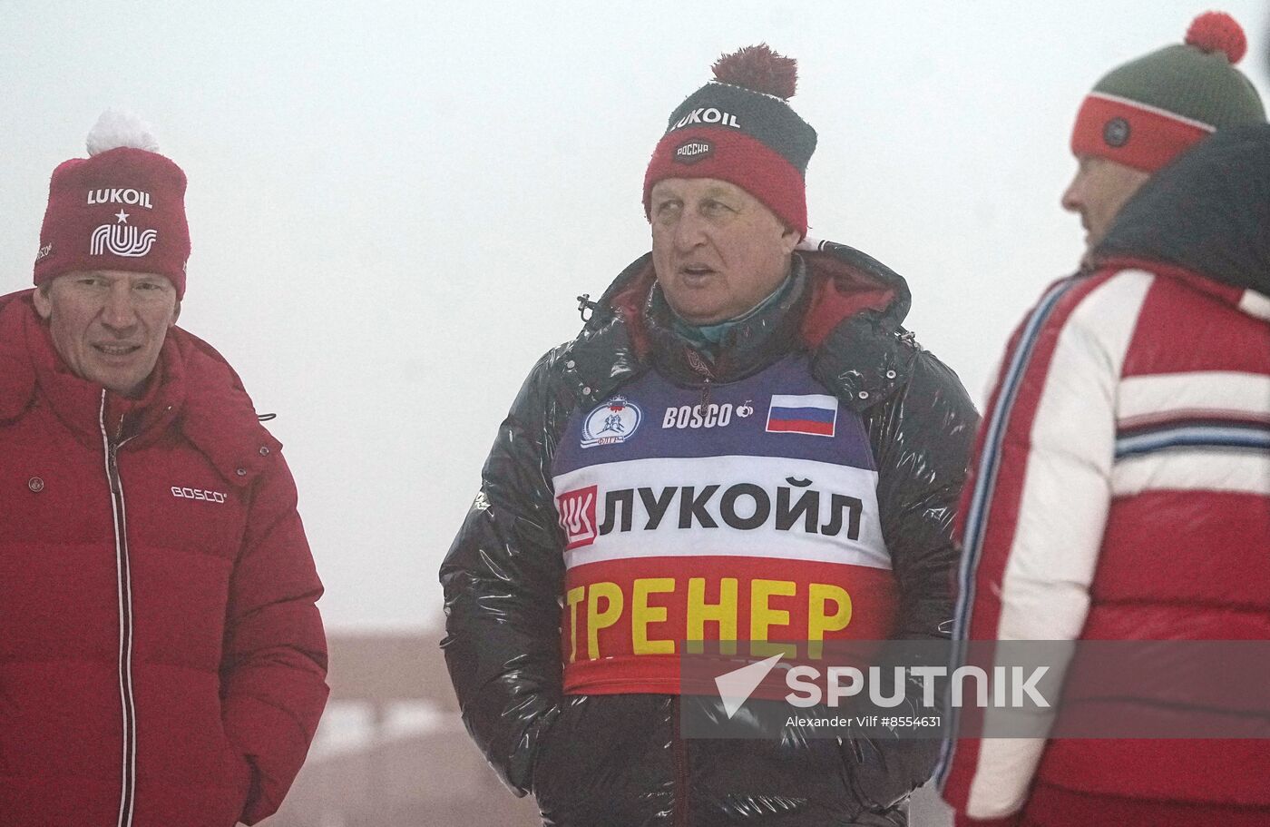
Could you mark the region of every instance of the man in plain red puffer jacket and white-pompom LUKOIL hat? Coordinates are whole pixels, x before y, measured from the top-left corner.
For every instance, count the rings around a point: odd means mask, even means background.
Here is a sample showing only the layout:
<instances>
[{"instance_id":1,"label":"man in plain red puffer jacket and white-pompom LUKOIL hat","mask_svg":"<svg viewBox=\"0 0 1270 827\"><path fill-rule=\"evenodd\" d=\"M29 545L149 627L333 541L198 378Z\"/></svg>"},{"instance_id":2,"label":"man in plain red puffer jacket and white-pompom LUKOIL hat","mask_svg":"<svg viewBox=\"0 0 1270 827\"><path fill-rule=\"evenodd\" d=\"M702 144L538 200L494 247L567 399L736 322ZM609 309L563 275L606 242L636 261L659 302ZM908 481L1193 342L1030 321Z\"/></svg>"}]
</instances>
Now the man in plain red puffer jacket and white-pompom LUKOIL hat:
<instances>
[{"instance_id":1,"label":"man in plain red puffer jacket and white-pompom LUKOIL hat","mask_svg":"<svg viewBox=\"0 0 1270 827\"><path fill-rule=\"evenodd\" d=\"M185 175L102 117L0 297L0 821L231 827L326 700L321 583L279 443L175 326Z\"/></svg>"}]
</instances>

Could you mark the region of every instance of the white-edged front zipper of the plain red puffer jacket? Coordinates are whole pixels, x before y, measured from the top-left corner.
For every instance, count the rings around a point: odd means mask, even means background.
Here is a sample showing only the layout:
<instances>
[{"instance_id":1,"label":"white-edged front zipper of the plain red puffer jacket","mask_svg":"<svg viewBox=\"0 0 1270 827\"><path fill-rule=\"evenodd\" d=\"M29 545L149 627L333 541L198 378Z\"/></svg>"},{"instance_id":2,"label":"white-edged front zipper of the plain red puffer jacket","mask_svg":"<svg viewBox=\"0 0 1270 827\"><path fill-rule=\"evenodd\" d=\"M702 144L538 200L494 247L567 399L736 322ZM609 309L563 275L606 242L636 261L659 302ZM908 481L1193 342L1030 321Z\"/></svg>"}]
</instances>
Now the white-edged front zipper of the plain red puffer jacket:
<instances>
[{"instance_id":1,"label":"white-edged front zipper of the plain red puffer jacket","mask_svg":"<svg viewBox=\"0 0 1270 827\"><path fill-rule=\"evenodd\" d=\"M119 703L123 716L123 770L119 790L118 827L132 827L132 810L137 789L137 710L132 696L132 570L128 561L128 522L123 506L123 480L119 479L118 451L127 442L121 440L123 427L114 440L105 429L105 390L98 413L102 447L105 456L105 481L110 489L110 512L114 517L114 565L119 592Z\"/></svg>"}]
</instances>

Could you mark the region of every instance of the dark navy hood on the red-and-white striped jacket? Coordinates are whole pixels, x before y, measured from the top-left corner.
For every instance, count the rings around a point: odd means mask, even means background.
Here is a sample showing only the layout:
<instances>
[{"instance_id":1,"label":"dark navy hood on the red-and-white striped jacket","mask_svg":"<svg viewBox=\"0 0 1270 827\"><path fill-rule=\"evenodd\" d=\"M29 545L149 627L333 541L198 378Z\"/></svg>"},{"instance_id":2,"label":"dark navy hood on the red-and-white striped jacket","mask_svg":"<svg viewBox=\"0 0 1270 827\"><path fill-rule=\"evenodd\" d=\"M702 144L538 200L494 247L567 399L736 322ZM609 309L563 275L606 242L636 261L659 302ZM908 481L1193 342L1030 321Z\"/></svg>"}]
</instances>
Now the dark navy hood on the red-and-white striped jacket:
<instances>
[{"instance_id":1,"label":"dark navy hood on the red-and-white striped jacket","mask_svg":"<svg viewBox=\"0 0 1270 827\"><path fill-rule=\"evenodd\" d=\"M1270 124L1222 130L1156 173L1093 252L1270 296Z\"/></svg>"}]
</instances>

